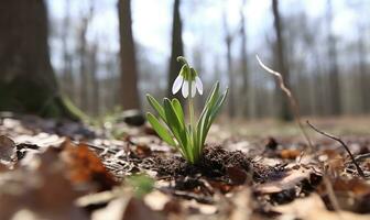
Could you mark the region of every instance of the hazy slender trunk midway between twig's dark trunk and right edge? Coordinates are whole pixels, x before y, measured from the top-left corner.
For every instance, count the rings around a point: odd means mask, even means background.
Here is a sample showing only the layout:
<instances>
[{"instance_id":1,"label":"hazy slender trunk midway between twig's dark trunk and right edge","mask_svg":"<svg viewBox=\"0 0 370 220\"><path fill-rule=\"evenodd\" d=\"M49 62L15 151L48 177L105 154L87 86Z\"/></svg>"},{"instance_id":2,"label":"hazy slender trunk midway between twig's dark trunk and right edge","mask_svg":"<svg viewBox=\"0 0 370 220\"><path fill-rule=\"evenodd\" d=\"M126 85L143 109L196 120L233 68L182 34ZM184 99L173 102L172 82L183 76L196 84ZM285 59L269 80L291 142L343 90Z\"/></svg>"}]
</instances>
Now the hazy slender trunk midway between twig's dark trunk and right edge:
<instances>
[{"instance_id":1,"label":"hazy slender trunk midway between twig's dark trunk and right edge","mask_svg":"<svg viewBox=\"0 0 370 220\"><path fill-rule=\"evenodd\" d=\"M328 48L328 64L329 64L329 95L328 101L330 114L338 116L341 113L340 87L339 87L339 69L337 55L337 38L333 34L333 6L331 0L327 0L327 48Z\"/></svg>"}]
</instances>

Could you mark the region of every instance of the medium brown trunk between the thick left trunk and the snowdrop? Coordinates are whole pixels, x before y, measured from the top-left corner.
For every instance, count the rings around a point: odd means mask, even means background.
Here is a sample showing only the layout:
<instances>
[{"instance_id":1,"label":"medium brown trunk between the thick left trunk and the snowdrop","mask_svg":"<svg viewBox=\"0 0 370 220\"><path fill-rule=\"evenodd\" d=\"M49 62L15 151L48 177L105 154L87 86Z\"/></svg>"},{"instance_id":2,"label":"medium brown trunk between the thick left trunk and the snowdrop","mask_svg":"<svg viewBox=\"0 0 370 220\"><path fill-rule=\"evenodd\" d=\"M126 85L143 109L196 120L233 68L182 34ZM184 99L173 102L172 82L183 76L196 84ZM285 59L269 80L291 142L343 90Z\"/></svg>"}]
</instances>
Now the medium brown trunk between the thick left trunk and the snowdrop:
<instances>
[{"instance_id":1,"label":"medium brown trunk between the thick left trunk and the snowdrop","mask_svg":"<svg viewBox=\"0 0 370 220\"><path fill-rule=\"evenodd\" d=\"M124 110L140 109L138 67L132 36L131 0L119 0L121 55L121 100Z\"/></svg>"}]
</instances>

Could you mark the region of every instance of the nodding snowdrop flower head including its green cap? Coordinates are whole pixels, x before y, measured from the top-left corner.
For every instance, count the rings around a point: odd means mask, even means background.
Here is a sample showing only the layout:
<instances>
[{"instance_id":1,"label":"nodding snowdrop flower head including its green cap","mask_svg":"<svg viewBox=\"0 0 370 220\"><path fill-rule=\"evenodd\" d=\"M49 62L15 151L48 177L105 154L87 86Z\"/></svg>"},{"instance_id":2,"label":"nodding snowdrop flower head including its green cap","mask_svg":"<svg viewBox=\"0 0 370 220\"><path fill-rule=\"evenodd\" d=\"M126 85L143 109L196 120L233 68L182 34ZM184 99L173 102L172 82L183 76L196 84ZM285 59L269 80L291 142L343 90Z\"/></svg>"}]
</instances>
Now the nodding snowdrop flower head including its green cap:
<instances>
[{"instance_id":1,"label":"nodding snowdrop flower head including its green cap","mask_svg":"<svg viewBox=\"0 0 370 220\"><path fill-rule=\"evenodd\" d=\"M181 58L178 59L181 61ZM182 89L184 98L187 98L189 94L192 98L195 97L196 91L198 91L199 95L203 95L202 80L195 69L189 67L187 63L184 63L179 70L179 74L172 86L172 94L175 95L179 89Z\"/></svg>"}]
</instances>

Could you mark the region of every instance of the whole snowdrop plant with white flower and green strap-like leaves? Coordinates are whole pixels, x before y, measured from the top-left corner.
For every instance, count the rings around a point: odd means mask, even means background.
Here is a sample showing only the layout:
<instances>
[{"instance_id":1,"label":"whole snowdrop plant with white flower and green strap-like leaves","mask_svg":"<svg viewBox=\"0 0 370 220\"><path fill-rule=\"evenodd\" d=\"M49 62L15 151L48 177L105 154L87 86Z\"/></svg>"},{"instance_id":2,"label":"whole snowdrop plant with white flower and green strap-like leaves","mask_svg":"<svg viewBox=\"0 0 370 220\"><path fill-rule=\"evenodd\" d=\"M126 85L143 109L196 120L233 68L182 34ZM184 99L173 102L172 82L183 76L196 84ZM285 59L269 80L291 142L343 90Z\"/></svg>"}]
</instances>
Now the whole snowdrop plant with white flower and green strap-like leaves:
<instances>
[{"instance_id":1,"label":"whole snowdrop plant with white flower and green strap-like leaves","mask_svg":"<svg viewBox=\"0 0 370 220\"><path fill-rule=\"evenodd\" d=\"M177 61L183 63L183 67L174 81L172 92L176 94L182 88L184 98L187 98L189 123L185 123L183 107L176 98L172 100L164 98L161 106L151 95L146 95L148 101L164 124L150 112L146 113L146 118L164 142L178 150L188 163L196 164L202 156L208 131L226 99L228 89L220 94L219 82L214 85L200 117L195 123L193 99L196 90L199 95L203 94L203 85L196 70L184 57L179 56Z\"/></svg>"}]
</instances>

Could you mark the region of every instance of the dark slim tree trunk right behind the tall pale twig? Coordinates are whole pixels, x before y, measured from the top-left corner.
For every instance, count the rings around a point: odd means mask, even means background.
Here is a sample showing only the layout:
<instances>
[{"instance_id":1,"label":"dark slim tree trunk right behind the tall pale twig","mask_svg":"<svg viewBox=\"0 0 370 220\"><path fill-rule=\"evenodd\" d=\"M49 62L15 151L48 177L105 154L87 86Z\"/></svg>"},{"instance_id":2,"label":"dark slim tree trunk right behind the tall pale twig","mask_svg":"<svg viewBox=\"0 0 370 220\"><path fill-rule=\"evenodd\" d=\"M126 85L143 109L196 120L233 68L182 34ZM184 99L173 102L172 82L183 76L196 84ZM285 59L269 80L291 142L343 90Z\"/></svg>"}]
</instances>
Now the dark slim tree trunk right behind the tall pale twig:
<instances>
[{"instance_id":1,"label":"dark slim tree trunk right behind the tall pale twig","mask_svg":"<svg viewBox=\"0 0 370 220\"><path fill-rule=\"evenodd\" d=\"M285 62L285 52L284 52L284 38L283 24L279 11L279 1L272 0L272 13L274 18L274 29L275 29L275 58L276 58L276 70L281 73L284 77L284 84L290 88L290 73ZM279 88L279 86L276 86ZM282 96L281 91L278 91L278 101L281 103L280 118L285 121L291 121L293 119L292 112L290 111L289 101L285 97Z\"/></svg>"}]
</instances>

